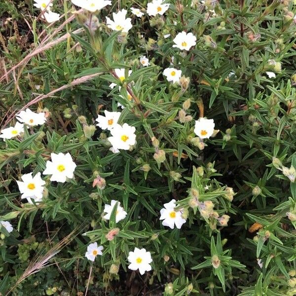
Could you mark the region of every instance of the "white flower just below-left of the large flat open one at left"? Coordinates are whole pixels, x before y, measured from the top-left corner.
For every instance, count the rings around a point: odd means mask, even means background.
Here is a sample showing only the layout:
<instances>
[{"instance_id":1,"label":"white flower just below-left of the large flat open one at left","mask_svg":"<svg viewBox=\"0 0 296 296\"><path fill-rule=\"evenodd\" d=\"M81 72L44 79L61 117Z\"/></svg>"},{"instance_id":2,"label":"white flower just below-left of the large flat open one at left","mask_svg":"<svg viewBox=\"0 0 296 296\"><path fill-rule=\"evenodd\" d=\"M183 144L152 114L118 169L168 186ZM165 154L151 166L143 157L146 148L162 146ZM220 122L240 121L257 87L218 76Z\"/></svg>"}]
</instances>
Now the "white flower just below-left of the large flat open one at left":
<instances>
[{"instance_id":1,"label":"white flower just below-left of the large flat open one at left","mask_svg":"<svg viewBox=\"0 0 296 296\"><path fill-rule=\"evenodd\" d=\"M37 173L32 177L33 173L24 174L21 178L23 182L16 181L20 192L22 193L21 198L27 198L28 202L33 204L32 199L35 202L42 200L43 190L45 182L41 179L41 174Z\"/></svg>"}]
</instances>

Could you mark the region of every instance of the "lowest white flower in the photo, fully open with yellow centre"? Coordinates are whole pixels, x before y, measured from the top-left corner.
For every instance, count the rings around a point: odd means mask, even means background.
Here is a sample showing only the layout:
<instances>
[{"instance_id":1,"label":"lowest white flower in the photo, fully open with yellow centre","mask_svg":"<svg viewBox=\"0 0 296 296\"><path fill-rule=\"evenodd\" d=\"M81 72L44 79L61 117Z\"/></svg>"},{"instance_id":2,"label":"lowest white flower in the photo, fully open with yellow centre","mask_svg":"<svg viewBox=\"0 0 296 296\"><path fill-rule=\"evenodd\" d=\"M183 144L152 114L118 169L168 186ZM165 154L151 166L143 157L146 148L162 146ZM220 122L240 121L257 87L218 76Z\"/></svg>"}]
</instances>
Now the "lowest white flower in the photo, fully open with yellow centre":
<instances>
[{"instance_id":1,"label":"lowest white flower in the photo, fully open with yellow centre","mask_svg":"<svg viewBox=\"0 0 296 296\"><path fill-rule=\"evenodd\" d=\"M147 252L145 249L140 250L138 248L135 248L134 252L129 252L127 259L130 262L128 268L131 270L139 269L142 275L145 273L145 271L151 270L151 254L150 252Z\"/></svg>"}]
</instances>

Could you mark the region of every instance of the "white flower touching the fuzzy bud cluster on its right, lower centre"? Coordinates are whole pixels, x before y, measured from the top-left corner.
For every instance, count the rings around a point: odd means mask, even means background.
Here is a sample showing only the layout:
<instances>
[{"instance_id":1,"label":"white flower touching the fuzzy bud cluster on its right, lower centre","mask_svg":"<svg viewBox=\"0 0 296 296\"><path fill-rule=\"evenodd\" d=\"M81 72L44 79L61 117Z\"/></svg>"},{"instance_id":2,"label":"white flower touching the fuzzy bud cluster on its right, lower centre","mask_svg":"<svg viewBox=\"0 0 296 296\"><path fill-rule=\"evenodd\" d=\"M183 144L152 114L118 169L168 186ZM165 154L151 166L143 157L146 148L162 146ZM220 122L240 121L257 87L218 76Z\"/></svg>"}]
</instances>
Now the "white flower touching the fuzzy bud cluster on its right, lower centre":
<instances>
[{"instance_id":1,"label":"white flower touching the fuzzy bud cluster on its right, lower centre","mask_svg":"<svg viewBox=\"0 0 296 296\"><path fill-rule=\"evenodd\" d=\"M181 226L186 220L181 217L181 210L175 211L176 200L172 199L169 203L166 203L163 206L164 208L160 210L159 218L159 220L163 220L162 225L169 226L171 229L174 229L174 226L176 225L178 229L181 229Z\"/></svg>"}]
</instances>

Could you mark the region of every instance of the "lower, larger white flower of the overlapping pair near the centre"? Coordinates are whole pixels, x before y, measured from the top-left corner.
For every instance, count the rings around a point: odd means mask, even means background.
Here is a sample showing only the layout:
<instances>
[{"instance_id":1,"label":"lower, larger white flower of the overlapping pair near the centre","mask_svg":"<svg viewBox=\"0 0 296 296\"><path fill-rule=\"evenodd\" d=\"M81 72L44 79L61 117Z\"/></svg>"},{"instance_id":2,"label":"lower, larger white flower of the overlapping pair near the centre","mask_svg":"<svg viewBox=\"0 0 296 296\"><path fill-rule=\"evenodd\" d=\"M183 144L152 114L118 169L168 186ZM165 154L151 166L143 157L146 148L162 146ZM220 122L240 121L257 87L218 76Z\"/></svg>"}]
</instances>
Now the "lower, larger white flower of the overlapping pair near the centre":
<instances>
[{"instance_id":1,"label":"lower, larger white flower of the overlapping pair near the centre","mask_svg":"<svg viewBox=\"0 0 296 296\"><path fill-rule=\"evenodd\" d=\"M124 123L122 126L117 124L111 129L112 137L108 140L114 149L128 150L136 143L135 127Z\"/></svg>"}]
</instances>

